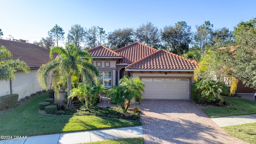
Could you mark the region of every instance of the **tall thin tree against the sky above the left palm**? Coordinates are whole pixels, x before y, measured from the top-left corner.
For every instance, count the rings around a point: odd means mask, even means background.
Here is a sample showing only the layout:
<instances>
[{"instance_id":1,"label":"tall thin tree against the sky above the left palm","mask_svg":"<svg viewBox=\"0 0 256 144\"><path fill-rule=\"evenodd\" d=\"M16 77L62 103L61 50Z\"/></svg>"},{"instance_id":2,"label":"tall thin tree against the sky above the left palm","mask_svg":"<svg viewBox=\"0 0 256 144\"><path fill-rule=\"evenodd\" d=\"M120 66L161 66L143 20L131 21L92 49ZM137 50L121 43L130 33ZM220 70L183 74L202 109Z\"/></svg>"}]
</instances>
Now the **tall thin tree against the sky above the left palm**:
<instances>
[{"instance_id":1,"label":"tall thin tree against the sky above the left palm","mask_svg":"<svg viewBox=\"0 0 256 144\"><path fill-rule=\"evenodd\" d=\"M64 40L64 30L57 24L48 32L48 35L54 39L58 46L58 42Z\"/></svg>"}]
</instances>

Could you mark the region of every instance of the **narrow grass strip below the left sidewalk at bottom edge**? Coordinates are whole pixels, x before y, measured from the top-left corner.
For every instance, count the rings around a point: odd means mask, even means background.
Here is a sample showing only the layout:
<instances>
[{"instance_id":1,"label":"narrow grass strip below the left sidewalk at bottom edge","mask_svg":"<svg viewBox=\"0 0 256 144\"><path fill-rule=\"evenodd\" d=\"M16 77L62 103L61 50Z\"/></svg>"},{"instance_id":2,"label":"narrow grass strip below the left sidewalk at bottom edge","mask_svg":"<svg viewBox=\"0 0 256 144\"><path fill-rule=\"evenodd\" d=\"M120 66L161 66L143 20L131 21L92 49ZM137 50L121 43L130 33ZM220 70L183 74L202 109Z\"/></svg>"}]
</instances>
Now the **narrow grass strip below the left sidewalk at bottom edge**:
<instances>
[{"instance_id":1,"label":"narrow grass strip below the left sidewalk at bottom edge","mask_svg":"<svg viewBox=\"0 0 256 144\"><path fill-rule=\"evenodd\" d=\"M117 140L103 140L98 142L88 142L82 144L143 144L143 138L120 138Z\"/></svg>"}]
</instances>

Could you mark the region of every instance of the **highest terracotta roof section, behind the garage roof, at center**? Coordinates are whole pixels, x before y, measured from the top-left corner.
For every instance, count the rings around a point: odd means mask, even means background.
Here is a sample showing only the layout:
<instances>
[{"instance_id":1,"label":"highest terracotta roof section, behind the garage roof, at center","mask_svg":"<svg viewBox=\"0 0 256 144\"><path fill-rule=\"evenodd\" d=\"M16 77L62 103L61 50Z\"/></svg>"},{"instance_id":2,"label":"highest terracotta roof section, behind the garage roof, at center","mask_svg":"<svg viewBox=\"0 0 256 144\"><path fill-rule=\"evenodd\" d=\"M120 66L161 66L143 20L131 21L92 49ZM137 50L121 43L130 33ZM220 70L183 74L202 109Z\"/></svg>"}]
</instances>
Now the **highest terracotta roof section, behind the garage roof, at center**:
<instances>
[{"instance_id":1,"label":"highest terracotta roof section, behind the garage roof, at center","mask_svg":"<svg viewBox=\"0 0 256 144\"><path fill-rule=\"evenodd\" d=\"M133 44L119 48L114 52L117 52L123 57L123 59L120 59L117 62L118 64L120 63L132 64L156 51L158 50L155 48L151 48L150 46L147 46L140 42L134 42Z\"/></svg>"}]
</instances>

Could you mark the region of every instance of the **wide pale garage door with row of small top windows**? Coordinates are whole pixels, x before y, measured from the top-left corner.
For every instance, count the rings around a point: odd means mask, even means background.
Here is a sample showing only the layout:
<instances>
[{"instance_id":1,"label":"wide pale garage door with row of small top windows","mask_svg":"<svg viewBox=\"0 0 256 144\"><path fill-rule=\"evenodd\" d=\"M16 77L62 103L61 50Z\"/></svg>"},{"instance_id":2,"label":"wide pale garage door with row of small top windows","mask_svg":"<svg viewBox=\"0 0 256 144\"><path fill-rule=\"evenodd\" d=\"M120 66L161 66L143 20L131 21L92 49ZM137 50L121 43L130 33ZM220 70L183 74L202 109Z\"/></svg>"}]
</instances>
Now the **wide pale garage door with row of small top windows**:
<instances>
[{"instance_id":1,"label":"wide pale garage door with row of small top windows","mask_svg":"<svg viewBox=\"0 0 256 144\"><path fill-rule=\"evenodd\" d=\"M145 83L143 99L189 99L188 78L142 78Z\"/></svg>"}]
</instances>

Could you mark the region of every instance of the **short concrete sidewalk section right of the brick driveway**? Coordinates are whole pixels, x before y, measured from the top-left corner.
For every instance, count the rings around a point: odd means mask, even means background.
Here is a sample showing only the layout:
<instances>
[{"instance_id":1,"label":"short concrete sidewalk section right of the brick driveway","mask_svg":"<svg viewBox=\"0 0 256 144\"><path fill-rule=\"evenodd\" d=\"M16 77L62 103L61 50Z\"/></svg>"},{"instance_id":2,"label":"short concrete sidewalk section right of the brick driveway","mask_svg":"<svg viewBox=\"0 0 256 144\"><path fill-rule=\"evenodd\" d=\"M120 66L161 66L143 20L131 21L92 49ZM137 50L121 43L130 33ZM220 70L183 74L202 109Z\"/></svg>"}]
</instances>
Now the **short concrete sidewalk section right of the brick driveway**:
<instances>
[{"instance_id":1,"label":"short concrete sidewalk section right of the brick driveway","mask_svg":"<svg viewBox=\"0 0 256 144\"><path fill-rule=\"evenodd\" d=\"M256 122L256 114L244 116L225 116L221 118L211 118L218 126L233 126L238 124L246 124Z\"/></svg>"}]
</instances>

